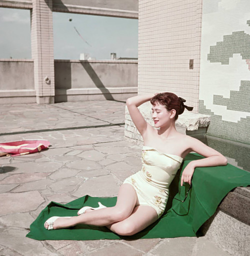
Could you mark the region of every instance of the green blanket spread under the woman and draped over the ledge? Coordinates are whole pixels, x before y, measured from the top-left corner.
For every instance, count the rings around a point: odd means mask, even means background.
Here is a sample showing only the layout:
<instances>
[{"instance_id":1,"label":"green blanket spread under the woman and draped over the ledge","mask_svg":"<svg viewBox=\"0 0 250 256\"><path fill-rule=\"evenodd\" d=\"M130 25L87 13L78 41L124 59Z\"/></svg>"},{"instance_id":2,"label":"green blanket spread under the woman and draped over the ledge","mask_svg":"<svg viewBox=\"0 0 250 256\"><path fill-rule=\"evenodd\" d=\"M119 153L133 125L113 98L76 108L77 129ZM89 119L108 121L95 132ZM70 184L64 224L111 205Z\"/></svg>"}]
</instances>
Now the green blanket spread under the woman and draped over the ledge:
<instances>
[{"instance_id":1,"label":"green blanket spread under the woman and draped over the ledge","mask_svg":"<svg viewBox=\"0 0 250 256\"><path fill-rule=\"evenodd\" d=\"M181 171L191 160L202 158L198 154L188 154L172 181L170 195L164 214L153 224L129 236L137 238L166 238L179 236L196 236L199 227L215 212L223 197L234 187L250 184L250 172L241 170L230 164L216 167L197 167L192 177L190 188L184 202L188 187L180 187ZM70 228L47 230L43 227L46 219L51 216L75 216L82 206L98 206L100 201L106 206L113 206L116 197L91 197L85 195L66 204L50 202L35 221L30 225L26 235L36 240L94 240L122 239L106 227L80 224ZM126 237L127 238L127 237Z\"/></svg>"}]
</instances>

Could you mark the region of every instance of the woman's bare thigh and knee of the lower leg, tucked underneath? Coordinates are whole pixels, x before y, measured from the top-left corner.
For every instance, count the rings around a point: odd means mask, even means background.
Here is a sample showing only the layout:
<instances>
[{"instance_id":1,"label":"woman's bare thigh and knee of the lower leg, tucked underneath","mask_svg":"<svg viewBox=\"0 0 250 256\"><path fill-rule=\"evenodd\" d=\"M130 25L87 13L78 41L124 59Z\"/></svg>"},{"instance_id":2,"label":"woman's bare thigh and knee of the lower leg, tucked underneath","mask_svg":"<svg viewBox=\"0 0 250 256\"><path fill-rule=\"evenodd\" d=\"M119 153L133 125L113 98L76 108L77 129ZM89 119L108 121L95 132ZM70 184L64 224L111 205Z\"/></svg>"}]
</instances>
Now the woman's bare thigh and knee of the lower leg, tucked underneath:
<instances>
[{"instance_id":1,"label":"woman's bare thigh and knee of the lower leg, tucked underneath","mask_svg":"<svg viewBox=\"0 0 250 256\"><path fill-rule=\"evenodd\" d=\"M157 219L158 215L153 207L138 205L134 207L129 217L107 225L107 227L119 235L132 235L143 230Z\"/></svg>"}]
</instances>

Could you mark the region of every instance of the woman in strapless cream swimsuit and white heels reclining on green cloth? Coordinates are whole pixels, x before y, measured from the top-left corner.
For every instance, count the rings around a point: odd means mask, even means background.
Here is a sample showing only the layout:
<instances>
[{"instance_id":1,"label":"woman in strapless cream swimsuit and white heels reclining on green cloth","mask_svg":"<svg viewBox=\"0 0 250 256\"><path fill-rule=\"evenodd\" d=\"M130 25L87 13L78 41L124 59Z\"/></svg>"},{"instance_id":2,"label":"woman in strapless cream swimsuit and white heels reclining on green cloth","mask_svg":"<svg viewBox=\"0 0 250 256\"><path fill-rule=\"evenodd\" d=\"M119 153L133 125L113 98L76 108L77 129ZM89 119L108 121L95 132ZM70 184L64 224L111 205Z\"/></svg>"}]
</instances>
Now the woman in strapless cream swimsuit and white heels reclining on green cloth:
<instances>
[{"instance_id":1,"label":"woman in strapless cream swimsuit and white heels reclining on green cloth","mask_svg":"<svg viewBox=\"0 0 250 256\"><path fill-rule=\"evenodd\" d=\"M149 100L154 127L145 121L137 108ZM194 151L205 158L187 164L181 175L181 185L183 182L191 183L195 167L225 165L227 160L219 152L176 131L178 114L184 111L184 107L192 109L185 106L184 101L170 92L128 98L127 108L144 141L142 169L125 179L119 188L115 206L105 207L100 203L98 208L85 206L78 211L78 216L49 218L44 227L50 230L90 224L107 226L119 235L135 234L163 213L168 186L187 153Z\"/></svg>"}]
</instances>

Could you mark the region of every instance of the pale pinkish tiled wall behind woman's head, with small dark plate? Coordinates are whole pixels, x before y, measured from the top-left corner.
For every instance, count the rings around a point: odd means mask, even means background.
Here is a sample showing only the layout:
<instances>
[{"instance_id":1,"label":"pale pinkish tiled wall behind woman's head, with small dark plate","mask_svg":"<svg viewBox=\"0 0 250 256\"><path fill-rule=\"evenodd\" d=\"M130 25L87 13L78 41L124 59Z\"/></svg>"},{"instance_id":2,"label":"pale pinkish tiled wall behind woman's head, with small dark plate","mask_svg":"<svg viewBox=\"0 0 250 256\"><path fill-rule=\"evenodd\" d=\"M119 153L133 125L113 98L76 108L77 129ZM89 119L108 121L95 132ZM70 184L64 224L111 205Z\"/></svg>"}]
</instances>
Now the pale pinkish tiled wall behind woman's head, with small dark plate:
<instances>
[{"instance_id":1,"label":"pale pinkish tiled wall behind woman's head, with small dark plate","mask_svg":"<svg viewBox=\"0 0 250 256\"><path fill-rule=\"evenodd\" d=\"M201 7L202 0L139 0L138 94L171 91L198 111Z\"/></svg>"}]
</instances>

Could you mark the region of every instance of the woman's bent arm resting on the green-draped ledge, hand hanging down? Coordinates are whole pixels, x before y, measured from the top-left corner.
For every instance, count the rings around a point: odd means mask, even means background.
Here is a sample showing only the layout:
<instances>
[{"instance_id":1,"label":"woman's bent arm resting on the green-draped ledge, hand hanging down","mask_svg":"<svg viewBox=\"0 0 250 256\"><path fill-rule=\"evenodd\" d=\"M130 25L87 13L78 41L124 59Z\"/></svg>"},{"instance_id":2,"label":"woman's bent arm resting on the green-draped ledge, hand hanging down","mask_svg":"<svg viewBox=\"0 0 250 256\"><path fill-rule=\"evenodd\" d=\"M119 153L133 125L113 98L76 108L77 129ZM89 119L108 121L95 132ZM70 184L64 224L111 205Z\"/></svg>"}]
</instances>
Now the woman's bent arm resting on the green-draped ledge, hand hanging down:
<instances>
[{"instance_id":1,"label":"woman's bent arm resting on the green-draped ledge, hand hanging down","mask_svg":"<svg viewBox=\"0 0 250 256\"><path fill-rule=\"evenodd\" d=\"M189 152L194 151L198 154L205 156L205 158L190 161L182 172L180 185L183 182L191 183L192 174L195 167L208 167L226 165L227 159L215 149L205 145L196 138L187 136L187 143L190 144Z\"/></svg>"}]
</instances>

